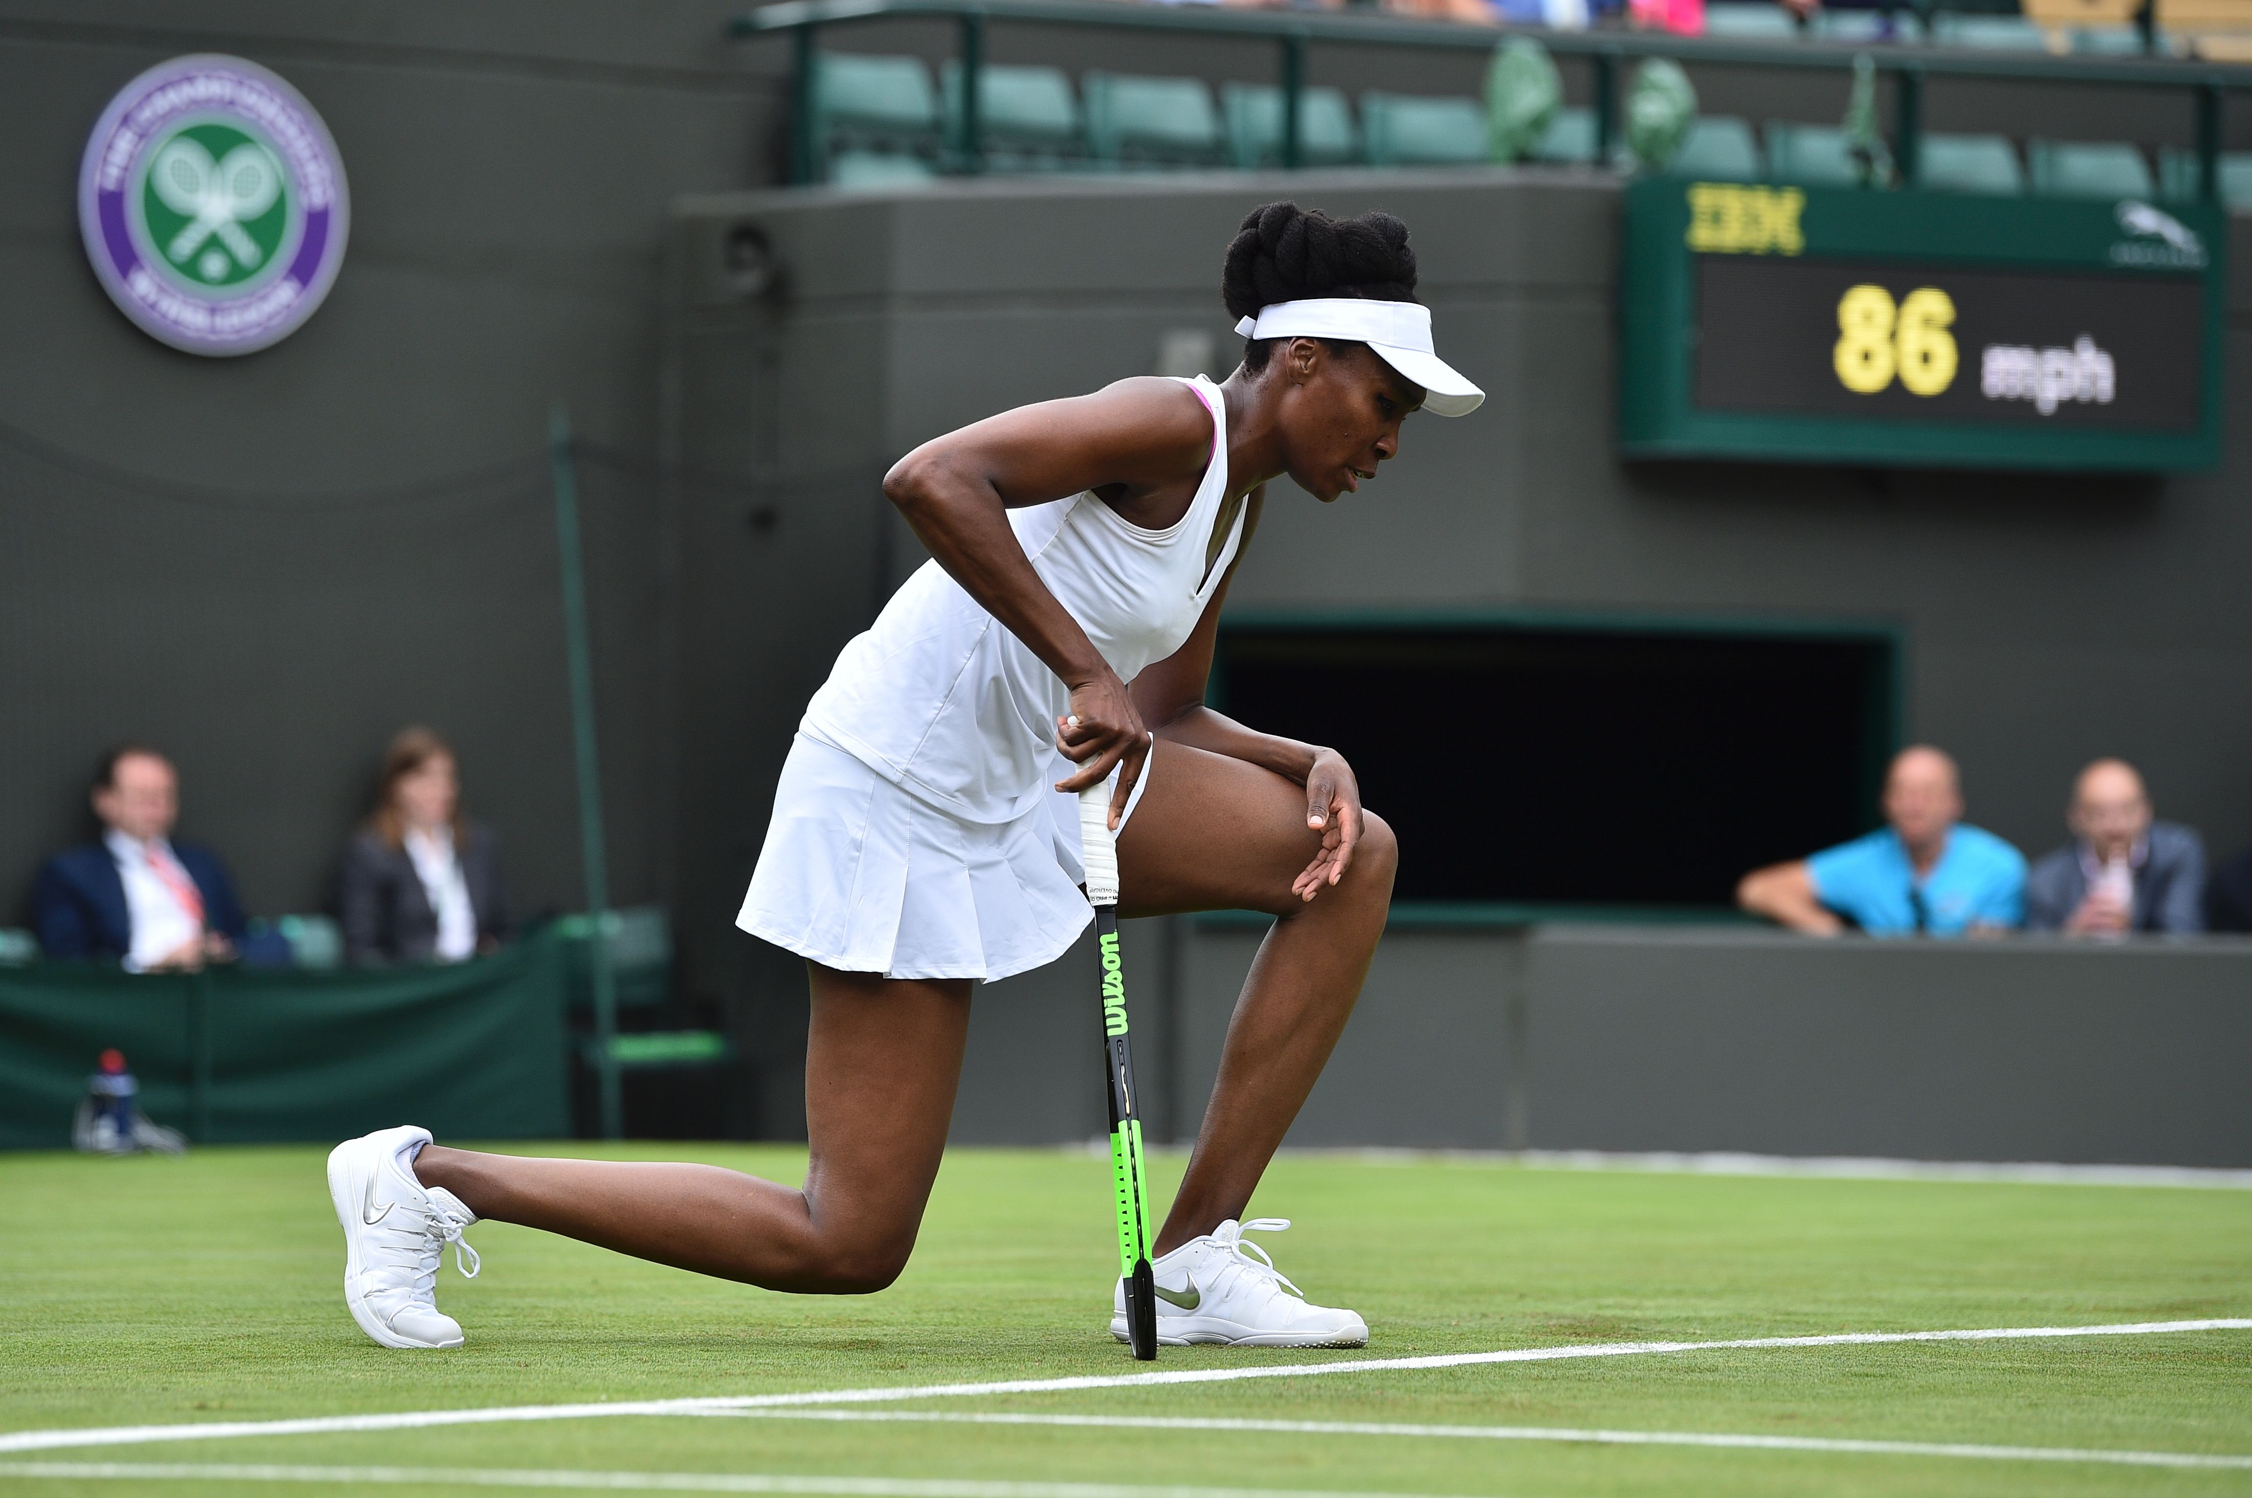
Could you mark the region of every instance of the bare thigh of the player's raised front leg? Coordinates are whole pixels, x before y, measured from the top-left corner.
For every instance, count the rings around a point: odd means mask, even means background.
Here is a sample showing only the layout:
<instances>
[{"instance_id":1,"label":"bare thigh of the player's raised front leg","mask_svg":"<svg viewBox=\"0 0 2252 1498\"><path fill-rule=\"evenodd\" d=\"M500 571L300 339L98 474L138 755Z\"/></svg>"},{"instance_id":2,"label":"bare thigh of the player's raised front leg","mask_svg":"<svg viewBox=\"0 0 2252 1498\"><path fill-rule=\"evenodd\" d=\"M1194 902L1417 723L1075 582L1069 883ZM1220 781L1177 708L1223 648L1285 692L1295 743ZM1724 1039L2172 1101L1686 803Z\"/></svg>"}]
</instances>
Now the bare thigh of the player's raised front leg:
<instances>
[{"instance_id":1,"label":"bare thigh of the player's raised front leg","mask_svg":"<svg viewBox=\"0 0 2252 1498\"><path fill-rule=\"evenodd\" d=\"M1119 915L1302 910L1290 881L1322 847L1306 788L1167 739L1151 755L1149 788L1119 833Z\"/></svg>"}]
</instances>

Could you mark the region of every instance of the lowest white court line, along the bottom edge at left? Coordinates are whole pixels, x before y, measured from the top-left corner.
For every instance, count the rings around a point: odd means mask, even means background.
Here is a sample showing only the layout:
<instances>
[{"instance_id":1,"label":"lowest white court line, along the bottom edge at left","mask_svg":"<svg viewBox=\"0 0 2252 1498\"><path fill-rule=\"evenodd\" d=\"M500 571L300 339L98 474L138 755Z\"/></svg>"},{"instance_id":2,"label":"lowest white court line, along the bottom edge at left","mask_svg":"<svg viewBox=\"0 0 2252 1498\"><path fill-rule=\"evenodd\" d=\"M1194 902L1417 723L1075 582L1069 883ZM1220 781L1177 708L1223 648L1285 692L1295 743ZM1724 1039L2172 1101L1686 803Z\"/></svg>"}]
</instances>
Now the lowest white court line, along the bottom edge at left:
<instances>
[{"instance_id":1,"label":"lowest white court line, along the bottom edge at left","mask_svg":"<svg viewBox=\"0 0 2252 1498\"><path fill-rule=\"evenodd\" d=\"M847 1498L1423 1498L1279 1487L1126 1487L1119 1482L946 1482L937 1478L786 1478L727 1471L540 1471L511 1466L272 1466L200 1462L0 1462L0 1478L122 1482L396 1482L410 1487L577 1487L628 1493L842 1493Z\"/></svg>"}]
</instances>

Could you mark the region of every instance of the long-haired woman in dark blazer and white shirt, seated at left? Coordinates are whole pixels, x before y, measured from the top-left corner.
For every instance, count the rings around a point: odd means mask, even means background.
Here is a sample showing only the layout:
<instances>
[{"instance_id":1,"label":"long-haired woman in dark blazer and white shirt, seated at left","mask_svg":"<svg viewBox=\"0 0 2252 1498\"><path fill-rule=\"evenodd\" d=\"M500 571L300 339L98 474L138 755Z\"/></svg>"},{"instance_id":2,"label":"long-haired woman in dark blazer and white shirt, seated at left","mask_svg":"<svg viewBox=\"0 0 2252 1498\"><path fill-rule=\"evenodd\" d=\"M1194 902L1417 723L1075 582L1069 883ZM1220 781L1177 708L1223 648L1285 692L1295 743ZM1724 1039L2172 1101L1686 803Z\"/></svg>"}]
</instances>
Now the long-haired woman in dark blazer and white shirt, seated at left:
<instances>
[{"instance_id":1,"label":"long-haired woman in dark blazer and white shirt, seated at left","mask_svg":"<svg viewBox=\"0 0 2252 1498\"><path fill-rule=\"evenodd\" d=\"M347 962L462 962L507 939L493 833L464 820L455 764L428 728L383 755L376 813L338 879Z\"/></svg>"}]
</instances>

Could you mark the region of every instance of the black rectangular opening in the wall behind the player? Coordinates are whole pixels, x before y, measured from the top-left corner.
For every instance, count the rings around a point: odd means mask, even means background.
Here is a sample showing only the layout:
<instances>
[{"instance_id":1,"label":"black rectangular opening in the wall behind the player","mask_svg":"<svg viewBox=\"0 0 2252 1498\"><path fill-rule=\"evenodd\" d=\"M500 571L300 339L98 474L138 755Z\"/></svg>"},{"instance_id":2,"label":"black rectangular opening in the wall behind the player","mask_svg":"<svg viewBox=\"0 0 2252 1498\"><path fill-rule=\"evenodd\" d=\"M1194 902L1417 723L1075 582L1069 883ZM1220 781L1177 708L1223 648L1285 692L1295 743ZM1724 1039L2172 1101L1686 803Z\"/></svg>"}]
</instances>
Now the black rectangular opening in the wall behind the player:
<instances>
[{"instance_id":1,"label":"black rectangular opening in the wall behind the player","mask_svg":"<svg viewBox=\"0 0 2252 1498\"><path fill-rule=\"evenodd\" d=\"M1898 637L1612 624L1232 624L1221 712L1329 743L1407 906L1725 908L1876 827Z\"/></svg>"}]
</instances>

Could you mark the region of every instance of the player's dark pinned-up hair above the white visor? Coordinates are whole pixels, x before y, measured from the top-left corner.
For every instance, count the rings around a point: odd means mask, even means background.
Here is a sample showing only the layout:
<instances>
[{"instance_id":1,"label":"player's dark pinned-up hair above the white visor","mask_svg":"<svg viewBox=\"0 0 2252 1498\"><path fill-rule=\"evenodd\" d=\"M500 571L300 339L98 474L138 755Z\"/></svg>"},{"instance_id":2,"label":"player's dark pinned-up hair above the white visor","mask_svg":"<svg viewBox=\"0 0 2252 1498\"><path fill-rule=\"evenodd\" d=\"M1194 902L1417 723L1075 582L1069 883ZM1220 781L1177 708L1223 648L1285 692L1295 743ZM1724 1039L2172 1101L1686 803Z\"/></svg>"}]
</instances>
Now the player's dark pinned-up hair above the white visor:
<instances>
[{"instance_id":1,"label":"player's dark pinned-up hair above the white visor","mask_svg":"<svg viewBox=\"0 0 2252 1498\"><path fill-rule=\"evenodd\" d=\"M1230 318L1257 318L1275 302L1369 297L1414 302L1414 250L1407 225L1392 214L1331 219L1297 203L1268 203L1243 216L1227 243L1221 297ZM1275 338L1243 345L1243 367L1266 369ZM1340 347L1329 338L1331 349Z\"/></svg>"}]
</instances>

